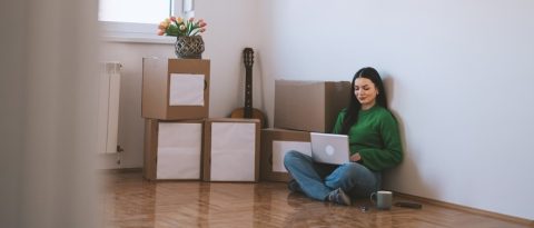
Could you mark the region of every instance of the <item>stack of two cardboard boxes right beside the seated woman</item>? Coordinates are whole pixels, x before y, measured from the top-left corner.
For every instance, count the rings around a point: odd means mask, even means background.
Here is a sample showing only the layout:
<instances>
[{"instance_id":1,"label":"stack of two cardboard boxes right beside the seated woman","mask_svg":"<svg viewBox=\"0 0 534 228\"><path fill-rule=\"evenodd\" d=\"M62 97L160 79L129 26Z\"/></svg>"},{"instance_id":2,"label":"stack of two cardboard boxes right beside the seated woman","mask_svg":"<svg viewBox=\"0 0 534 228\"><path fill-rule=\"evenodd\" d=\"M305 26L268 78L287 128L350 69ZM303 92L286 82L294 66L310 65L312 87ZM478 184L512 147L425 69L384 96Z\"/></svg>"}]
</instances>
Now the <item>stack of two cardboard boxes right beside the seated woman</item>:
<instances>
[{"instance_id":1,"label":"stack of two cardboard boxes right beside the seated woman","mask_svg":"<svg viewBox=\"0 0 534 228\"><path fill-rule=\"evenodd\" d=\"M261 179L288 181L284 156L312 155L309 132L332 132L348 105L349 81L275 81L274 128L261 130Z\"/></svg>"}]
</instances>

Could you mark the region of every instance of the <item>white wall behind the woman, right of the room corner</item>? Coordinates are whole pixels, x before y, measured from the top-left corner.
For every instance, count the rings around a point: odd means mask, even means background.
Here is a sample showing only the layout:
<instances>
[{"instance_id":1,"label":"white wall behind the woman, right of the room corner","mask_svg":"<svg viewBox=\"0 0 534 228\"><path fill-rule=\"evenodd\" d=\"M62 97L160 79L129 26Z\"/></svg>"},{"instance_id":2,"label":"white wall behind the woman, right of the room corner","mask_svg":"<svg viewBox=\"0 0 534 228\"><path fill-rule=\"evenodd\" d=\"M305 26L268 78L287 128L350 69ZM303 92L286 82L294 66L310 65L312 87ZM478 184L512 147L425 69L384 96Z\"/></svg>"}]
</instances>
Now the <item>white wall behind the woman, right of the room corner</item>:
<instances>
[{"instance_id":1,"label":"white wall behind the woman, right of the room corner","mask_svg":"<svg viewBox=\"0 0 534 228\"><path fill-rule=\"evenodd\" d=\"M263 73L349 80L373 66L402 123L385 188L534 219L534 2L273 0Z\"/></svg>"}]
</instances>

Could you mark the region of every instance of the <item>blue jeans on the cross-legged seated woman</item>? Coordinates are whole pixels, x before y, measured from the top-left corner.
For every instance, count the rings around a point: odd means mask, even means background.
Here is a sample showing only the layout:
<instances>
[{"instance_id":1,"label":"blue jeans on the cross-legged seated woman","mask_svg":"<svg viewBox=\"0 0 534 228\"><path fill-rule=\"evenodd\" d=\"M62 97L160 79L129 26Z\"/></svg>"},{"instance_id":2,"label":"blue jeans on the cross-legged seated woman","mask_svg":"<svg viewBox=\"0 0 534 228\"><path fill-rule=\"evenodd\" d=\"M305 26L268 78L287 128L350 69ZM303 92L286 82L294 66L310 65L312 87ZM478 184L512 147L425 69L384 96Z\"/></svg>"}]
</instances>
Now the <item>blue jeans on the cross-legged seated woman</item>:
<instances>
[{"instance_id":1,"label":"blue jeans on the cross-legged seated woman","mask_svg":"<svg viewBox=\"0 0 534 228\"><path fill-rule=\"evenodd\" d=\"M291 150L284 157L284 166L303 192L317 200L325 200L337 188L350 198L369 197L380 188L380 172L370 171L357 162L339 166L317 163L312 157Z\"/></svg>"}]
</instances>

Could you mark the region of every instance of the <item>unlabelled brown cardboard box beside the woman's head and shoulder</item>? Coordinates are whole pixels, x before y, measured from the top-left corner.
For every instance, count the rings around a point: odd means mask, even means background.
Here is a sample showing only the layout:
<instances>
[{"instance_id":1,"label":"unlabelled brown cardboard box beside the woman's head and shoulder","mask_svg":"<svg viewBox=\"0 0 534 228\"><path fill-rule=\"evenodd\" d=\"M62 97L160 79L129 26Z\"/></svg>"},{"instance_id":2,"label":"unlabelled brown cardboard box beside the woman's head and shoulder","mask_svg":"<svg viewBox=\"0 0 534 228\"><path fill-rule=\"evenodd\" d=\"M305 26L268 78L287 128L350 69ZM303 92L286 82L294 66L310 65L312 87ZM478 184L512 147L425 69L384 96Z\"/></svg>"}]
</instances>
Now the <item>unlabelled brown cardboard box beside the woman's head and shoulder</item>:
<instances>
[{"instance_id":1,"label":"unlabelled brown cardboard box beside the woman's head and shoulder","mask_svg":"<svg viewBox=\"0 0 534 228\"><path fill-rule=\"evenodd\" d=\"M275 128L332 132L348 106L349 81L275 81Z\"/></svg>"}]
</instances>

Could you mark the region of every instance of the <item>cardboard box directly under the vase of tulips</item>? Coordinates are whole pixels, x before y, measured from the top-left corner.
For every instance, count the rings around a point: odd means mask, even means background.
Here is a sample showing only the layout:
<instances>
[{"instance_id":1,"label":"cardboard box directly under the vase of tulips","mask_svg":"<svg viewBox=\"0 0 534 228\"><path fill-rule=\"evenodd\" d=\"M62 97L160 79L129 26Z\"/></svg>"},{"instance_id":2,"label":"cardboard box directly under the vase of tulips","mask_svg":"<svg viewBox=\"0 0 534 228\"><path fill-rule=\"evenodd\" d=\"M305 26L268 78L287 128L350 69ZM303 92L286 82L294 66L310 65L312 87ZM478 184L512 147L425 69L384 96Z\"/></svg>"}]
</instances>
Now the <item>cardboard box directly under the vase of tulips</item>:
<instances>
[{"instance_id":1,"label":"cardboard box directly under the vase of tulips","mask_svg":"<svg viewBox=\"0 0 534 228\"><path fill-rule=\"evenodd\" d=\"M209 116L209 60L142 59L141 116L161 120Z\"/></svg>"}]
</instances>

